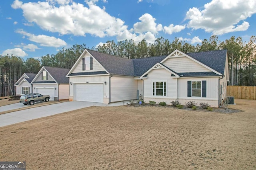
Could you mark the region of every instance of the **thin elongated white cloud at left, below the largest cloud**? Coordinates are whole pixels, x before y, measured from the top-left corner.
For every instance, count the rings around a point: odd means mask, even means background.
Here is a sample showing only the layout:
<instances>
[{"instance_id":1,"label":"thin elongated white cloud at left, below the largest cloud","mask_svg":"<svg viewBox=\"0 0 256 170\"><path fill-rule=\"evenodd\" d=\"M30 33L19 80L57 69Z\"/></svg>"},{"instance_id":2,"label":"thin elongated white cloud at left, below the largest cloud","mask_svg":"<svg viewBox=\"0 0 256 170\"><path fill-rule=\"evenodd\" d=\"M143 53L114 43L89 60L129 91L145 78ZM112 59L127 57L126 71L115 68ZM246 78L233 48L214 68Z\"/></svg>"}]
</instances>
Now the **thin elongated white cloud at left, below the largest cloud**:
<instances>
[{"instance_id":1,"label":"thin elongated white cloud at left, below the largest cloud","mask_svg":"<svg viewBox=\"0 0 256 170\"><path fill-rule=\"evenodd\" d=\"M40 46L45 46L45 47L62 47L66 46L67 43L63 41L62 39L55 38L55 37L50 37L47 35L34 35L31 33L27 33L26 31L23 31L23 29L18 29L16 30L16 33L20 33L26 37L30 41L40 43Z\"/></svg>"}]
</instances>

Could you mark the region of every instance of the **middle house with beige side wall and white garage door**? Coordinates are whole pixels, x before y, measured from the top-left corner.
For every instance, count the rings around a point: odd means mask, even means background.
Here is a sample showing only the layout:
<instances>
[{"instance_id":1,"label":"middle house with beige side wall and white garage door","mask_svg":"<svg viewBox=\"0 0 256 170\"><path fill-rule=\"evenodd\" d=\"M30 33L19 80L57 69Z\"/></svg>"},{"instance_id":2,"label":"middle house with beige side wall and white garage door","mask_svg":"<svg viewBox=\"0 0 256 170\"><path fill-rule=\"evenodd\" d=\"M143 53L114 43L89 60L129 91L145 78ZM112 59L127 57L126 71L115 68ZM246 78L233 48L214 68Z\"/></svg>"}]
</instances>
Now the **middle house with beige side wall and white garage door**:
<instances>
[{"instance_id":1,"label":"middle house with beige side wall and white garage door","mask_svg":"<svg viewBox=\"0 0 256 170\"><path fill-rule=\"evenodd\" d=\"M66 74L70 69L43 66L32 80L33 92L50 95L50 100L69 98L69 80Z\"/></svg>"}]
</instances>

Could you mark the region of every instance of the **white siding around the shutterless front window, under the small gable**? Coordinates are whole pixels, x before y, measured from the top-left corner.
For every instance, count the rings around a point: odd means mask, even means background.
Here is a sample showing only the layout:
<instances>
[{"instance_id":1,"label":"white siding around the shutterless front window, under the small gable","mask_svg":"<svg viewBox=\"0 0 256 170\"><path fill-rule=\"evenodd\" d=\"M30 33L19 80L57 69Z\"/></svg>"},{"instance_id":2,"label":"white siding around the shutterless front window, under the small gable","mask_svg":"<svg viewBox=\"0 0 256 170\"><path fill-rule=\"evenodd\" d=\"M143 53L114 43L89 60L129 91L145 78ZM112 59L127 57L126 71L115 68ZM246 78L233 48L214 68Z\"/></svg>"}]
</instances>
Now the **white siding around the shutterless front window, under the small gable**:
<instances>
[{"instance_id":1,"label":"white siding around the shutterless front window, under the small gable","mask_svg":"<svg viewBox=\"0 0 256 170\"><path fill-rule=\"evenodd\" d=\"M166 82L166 96L153 96L153 82ZM144 79L144 98L177 98L177 78L164 68L153 69Z\"/></svg>"}]
</instances>

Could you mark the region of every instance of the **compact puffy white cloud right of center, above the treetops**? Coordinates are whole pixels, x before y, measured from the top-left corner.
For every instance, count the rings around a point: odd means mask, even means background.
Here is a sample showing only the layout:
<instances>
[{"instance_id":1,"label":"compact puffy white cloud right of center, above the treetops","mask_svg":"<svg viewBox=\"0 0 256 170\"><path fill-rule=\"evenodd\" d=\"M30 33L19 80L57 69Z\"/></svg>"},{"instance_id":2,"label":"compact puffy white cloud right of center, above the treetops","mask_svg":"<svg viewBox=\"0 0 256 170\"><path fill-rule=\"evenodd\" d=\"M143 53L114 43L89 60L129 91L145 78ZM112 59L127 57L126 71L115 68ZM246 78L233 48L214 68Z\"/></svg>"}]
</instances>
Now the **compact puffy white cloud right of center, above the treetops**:
<instances>
[{"instance_id":1,"label":"compact puffy white cloud right of center, above the treetops","mask_svg":"<svg viewBox=\"0 0 256 170\"><path fill-rule=\"evenodd\" d=\"M162 31L162 24L156 24L156 18L153 18L150 14L143 14L139 20L141 22L134 23L134 31L136 33L143 33L150 31L151 33L158 33Z\"/></svg>"}]
</instances>

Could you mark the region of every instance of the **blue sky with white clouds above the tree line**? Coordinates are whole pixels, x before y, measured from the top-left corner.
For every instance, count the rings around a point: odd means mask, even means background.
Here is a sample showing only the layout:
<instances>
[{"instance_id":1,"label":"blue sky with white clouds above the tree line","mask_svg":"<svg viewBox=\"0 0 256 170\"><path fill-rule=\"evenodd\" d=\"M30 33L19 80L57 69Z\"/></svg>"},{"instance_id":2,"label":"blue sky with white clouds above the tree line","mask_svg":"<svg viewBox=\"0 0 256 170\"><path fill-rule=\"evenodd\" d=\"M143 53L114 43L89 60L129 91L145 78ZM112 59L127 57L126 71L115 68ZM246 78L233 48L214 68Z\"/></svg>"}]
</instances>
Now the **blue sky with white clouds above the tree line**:
<instances>
[{"instance_id":1,"label":"blue sky with white clouds above the tree line","mask_svg":"<svg viewBox=\"0 0 256 170\"><path fill-rule=\"evenodd\" d=\"M218 35L248 41L256 0L1 0L0 54L26 60L75 44L178 37L193 45Z\"/></svg>"}]
</instances>

